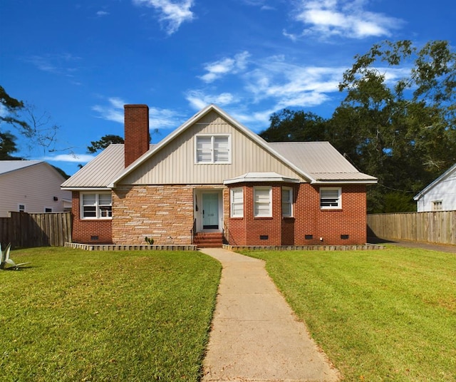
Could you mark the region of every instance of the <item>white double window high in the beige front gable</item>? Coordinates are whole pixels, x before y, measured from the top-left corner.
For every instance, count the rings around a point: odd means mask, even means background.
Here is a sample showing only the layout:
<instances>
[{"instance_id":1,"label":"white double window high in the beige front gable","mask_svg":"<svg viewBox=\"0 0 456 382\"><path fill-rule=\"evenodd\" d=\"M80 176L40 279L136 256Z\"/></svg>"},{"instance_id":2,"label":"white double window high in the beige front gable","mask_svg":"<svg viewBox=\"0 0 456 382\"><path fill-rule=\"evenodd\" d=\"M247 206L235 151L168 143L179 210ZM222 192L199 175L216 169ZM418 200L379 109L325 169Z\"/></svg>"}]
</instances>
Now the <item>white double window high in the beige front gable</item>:
<instances>
[{"instance_id":1,"label":"white double window high in the beige front gable","mask_svg":"<svg viewBox=\"0 0 456 382\"><path fill-rule=\"evenodd\" d=\"M230 163L231 137L229 135L197 135L195 162Z\"/></svg>"}]
</instances>

